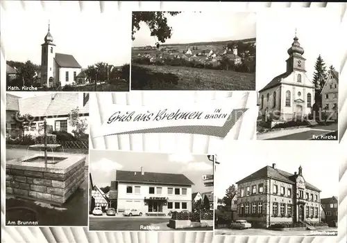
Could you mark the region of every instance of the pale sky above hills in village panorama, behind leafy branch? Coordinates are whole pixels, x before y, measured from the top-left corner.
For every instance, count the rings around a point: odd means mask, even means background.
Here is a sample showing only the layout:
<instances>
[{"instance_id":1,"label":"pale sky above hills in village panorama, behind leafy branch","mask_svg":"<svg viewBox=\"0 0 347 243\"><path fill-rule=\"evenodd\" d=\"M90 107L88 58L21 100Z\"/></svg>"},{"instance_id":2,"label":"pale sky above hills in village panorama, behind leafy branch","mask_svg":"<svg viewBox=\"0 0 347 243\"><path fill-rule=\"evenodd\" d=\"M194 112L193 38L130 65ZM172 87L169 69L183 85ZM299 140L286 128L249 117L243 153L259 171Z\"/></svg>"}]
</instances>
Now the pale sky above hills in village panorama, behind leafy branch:
<instances>
[{"instance_id":1,"label":"pale sky above hills in village panorama, behind leafy branch","mask_svg":"<svg viewBox=\"0 0 347 243\"><path fill-rule=\"evenodd\" d=\"M165 44L192 42L217 42L254 38L256 25L253 12L181 12L167 16L167 24L173 29ZM158 42L151 36L149 27L142 22L135 33L133 46L154 46Z\"/></svg>"}]
</instances>

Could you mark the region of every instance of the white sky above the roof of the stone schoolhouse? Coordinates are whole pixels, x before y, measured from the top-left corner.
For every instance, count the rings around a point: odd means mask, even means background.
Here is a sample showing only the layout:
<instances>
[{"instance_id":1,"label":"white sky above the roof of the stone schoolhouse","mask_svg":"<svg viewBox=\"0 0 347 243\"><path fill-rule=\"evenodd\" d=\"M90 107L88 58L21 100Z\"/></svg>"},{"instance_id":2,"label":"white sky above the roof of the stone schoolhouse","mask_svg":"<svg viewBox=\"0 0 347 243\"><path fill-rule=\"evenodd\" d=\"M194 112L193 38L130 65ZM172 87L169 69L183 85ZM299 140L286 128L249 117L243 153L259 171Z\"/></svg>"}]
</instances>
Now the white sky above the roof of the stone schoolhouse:
<instances>
[{"instance_id":1,"label":"white sky above the roof of the stone schoolhouse","mask_svg":"<svg viewBox=\"0 0 347 243\"><path fill-rule=\"evenodd\" d=\"M305 181L321 190L321 198L339 195L339 151L332 141L242 141L217 154L214 195L266 165L294 174L301 165ZM323 148L323 150L319 150ZM235 185L236 186L236 185Z\"/></svg>"}]
</instances>

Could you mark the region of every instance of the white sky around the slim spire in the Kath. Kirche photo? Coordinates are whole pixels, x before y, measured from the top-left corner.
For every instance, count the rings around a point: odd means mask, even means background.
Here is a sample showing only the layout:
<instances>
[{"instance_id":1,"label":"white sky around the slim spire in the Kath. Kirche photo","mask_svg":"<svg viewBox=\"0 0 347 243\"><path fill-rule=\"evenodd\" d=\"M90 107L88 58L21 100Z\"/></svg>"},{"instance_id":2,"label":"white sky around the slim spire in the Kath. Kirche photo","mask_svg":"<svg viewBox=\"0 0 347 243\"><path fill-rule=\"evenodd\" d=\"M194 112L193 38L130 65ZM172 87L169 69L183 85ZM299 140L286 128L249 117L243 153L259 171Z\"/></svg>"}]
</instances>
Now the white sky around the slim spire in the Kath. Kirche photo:
<instances>
[{"instance_id":1,"label":"white sky around the slim spire in the Kath. Kirche photo","mask_svg":"<svg viewBox=\"0 0 347 243\"><path fill-rule=\"evenodd\" d=\"M42 10L24 12L11 8L1 15L1 44L6 60L31 60L34 64L41 64L41 44L50 21L56 53L74 55L83 68L96 62L115 66L130 63L129 12L90 15L79 10L57 10L48 16Z\"/></svg>"}]
</instances>

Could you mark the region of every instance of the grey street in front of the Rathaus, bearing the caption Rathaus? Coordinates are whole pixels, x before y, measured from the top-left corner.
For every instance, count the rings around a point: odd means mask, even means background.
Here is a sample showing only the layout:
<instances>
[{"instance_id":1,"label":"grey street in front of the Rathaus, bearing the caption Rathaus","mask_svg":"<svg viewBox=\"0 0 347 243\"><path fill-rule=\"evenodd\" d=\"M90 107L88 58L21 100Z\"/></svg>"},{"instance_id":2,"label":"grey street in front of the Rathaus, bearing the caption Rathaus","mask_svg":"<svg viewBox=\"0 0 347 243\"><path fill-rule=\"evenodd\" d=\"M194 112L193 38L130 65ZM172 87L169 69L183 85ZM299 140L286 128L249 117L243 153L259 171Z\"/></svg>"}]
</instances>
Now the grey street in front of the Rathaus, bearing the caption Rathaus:
<instances>
[{"instance_id":1,"label":"grey street in front of the Rathaus, bearing the caption Rathaus","mask_svg":"<svg viewBox=\"0 0 347 243\"><path fill-rule=\"evenodd\" d=\"M95 217L89 221L90 231L212 231L209 228L184 228L175 230L167 226L169 217ZM146 228L149 226L149 228Z\"/></svg>"}]
</instances>

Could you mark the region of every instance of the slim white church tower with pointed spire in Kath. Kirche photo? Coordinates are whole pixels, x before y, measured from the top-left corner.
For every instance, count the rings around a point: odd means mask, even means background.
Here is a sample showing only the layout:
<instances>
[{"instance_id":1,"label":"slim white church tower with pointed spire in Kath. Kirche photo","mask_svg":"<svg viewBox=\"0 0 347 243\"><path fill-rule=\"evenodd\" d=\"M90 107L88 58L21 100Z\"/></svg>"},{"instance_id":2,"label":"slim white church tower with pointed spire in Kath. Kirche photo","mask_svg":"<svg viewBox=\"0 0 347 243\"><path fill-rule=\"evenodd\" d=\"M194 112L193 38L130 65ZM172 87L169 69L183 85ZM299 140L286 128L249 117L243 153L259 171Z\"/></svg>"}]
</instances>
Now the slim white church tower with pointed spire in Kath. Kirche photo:
<instances>
[{"instance_id":1,"label":"slim white church tower with pointed spire in Kath. Kirche photo","mask_svg":"<svg viewBox=\"0 0 347 243\"><path fill-rule=\"evenodd\" d=\"M56 55L56 44L53 44L53 36L51 35L50 24L48 24L48 32L44 37L44 44L41 45L41 85L51 87L54 78L54 57Z\"/></svg>"}]
</instances>

